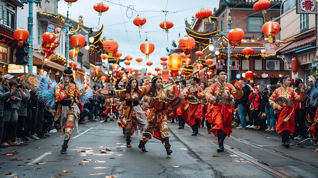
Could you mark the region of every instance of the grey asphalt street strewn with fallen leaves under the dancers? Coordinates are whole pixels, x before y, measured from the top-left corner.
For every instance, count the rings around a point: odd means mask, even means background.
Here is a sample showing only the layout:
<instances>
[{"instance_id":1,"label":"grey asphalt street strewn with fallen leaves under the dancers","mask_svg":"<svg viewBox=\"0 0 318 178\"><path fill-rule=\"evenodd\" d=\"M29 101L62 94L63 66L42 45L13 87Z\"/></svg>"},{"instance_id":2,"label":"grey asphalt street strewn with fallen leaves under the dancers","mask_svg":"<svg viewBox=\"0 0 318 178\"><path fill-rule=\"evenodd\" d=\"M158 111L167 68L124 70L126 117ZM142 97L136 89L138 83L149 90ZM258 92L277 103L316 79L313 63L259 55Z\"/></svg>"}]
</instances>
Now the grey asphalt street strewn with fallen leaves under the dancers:
<instances>
[{"instance_id":1,"label":"grey asphalt street strewn with fallen leaves under the dancers","mask_svg":"<svg viewBox=\"0 0 318 178\"><path fill-rule=\"evenodd\" d=\"M168 123L173 153L167 156L156 139L138 148L141 135L125 147L116 122L90 121L73 130L66 154L60 154L61 133L21 147L0 149L0 177L317 177L318 152L312 143L286 149L277 133L233 129L225 152L217 138L200 128ZM294 141L296 143L296 141ZM107 149L106 149L107 148ZM106 151L107 150L107 151Z\"/></svg>"}]
</instances>

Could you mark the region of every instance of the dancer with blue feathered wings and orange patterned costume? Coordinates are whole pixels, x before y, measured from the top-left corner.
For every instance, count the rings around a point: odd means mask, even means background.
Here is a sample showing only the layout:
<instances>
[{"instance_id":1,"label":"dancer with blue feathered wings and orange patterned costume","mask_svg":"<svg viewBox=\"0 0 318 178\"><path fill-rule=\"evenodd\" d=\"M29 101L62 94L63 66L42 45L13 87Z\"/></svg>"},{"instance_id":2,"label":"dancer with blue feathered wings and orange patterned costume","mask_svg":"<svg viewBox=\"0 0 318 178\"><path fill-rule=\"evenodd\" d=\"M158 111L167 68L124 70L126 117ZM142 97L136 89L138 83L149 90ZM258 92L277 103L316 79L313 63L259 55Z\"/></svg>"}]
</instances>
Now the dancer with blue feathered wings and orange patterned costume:
<instances>
[{"instance_id":1,"label":"dancer with blue feathered wings and orange patterned costume","mask_svg":"<svg viewBox=\"0 0 318 178\"><path fill-rule=\"evenodd\" d=\"M63 77L66 76L70 77L68 86L64 86L62 82L57 84L55 80L51 80L47 75L37 75L33 73L25 75L23 83L23 85L27 86L31 91L37 93L39 101L44 101L47 108L55 109L57 101L55 121L59 123L57 124L59 130L65 134L65 143L62 145L62 148L65 149L64 153L66 152L74 124L78 128L77 119L80 114L78 104L83 105L87 103L93 95L93 91L90 88L85 89L80 82L74 82L73 70L70 68L64 70Z\"/></svg>"}]
</instances>

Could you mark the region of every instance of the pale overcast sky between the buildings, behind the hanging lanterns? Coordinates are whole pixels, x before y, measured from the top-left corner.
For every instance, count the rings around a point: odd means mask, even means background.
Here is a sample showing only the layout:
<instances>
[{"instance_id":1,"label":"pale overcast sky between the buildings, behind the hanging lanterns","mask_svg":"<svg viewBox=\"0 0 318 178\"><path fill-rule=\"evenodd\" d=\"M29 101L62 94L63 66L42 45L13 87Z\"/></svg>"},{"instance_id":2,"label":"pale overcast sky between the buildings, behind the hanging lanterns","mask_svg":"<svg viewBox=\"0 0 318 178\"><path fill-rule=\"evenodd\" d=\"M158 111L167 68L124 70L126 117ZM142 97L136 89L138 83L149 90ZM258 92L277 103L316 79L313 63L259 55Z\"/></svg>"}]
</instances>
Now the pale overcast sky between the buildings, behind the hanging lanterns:
<instances>
[{"instance_id":1,"label":"pale overcast sky between the buildings, behind the hanging lanterns","mask_svg":"<svg viewBox=\"0 0 318 178\"><path fill-rule=\"evenodd\" d=\"M104 12L102 16L98 16L98 12L93 9L93 5L99 2L109 6L109 10ZM131 67L136 69L148 67L146 65L148 60L153 62L151 68L154 68L155 65L162 68L160 57L166 56L166 47L170 49L173 40L178 40L186 35L184 19L187 18L188 22L191 23L192 16L195 16L196 12L201 8L213 10L213 8L218 8L219 3L218 0L121 0L109 2L103 0L80 0L73 3L72 7L70 7L69 17L78 20L78 17L82 15L84 25L96 29L104 24L102 37L106 37L107 40L112 38L117 41L119 45L118 51L122 53L122 57L126 55L133 56ZM138 12L112 3L126 7L132 5L131 7ZM68 7L65 1L59 1L58 13L66 15ZM165 14L162 11L168 11L166 20L174 23L173 28L169 29L169 41L167 41L165 30L159 26L165 20ZM133 24L133 19L138 14L147 19L146 24L140 30L141 38L139 38L138 26ZM100 25L98 24L99 17L101 17ZM154 52L150 54L150 59L147 60L145 60L145 55L140 51L140 44L145 41L146 37L155 46ZM140 64L135 61L137 57L143 58ZM154 73L154 70L150 70L150 72Z\"/></svg>"}]
</instances>

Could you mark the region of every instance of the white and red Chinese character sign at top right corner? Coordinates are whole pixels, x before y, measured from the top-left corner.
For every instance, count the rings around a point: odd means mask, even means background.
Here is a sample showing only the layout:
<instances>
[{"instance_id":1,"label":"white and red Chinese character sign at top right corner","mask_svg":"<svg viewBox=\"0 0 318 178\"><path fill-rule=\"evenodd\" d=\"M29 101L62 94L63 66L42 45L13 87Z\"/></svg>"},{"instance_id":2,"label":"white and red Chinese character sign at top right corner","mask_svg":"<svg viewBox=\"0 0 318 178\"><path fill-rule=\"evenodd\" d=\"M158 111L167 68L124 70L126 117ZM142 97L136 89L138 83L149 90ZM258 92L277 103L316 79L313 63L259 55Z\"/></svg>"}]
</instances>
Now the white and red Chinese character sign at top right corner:
<instances>
[{"instance_id":1,"label":"white and red Chinese character sign at top right corner","mask_svg":"<svg viewBox=\"0 0 318 178\"><path fill-rule=\"evenodd\" d=\"M317 14L317 5L315 0L297 0L296 14Z\"/></svg>"}]
</instances>

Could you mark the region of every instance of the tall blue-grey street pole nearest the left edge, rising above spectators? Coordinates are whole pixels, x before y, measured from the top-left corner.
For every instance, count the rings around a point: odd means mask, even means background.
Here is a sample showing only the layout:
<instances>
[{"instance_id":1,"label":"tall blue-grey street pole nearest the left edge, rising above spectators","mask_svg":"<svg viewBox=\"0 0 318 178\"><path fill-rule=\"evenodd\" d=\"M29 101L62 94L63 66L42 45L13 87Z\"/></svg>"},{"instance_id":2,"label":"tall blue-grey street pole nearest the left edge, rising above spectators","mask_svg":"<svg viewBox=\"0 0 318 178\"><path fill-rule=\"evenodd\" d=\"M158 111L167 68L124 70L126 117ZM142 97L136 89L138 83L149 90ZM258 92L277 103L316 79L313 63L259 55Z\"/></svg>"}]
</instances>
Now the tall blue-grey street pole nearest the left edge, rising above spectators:
<instances>
[{"instance_id":1,"label":"tall blue-grey street pole nearest the left edge, rising above spectators","mask_svg":"<svg viewBox=\"0 0 318 178\"><path fill-rule=\"evenodd\" d=\"M27 49L27 71L29 73L33 71L33 3L39 5L41 2L42 0L21 0L21 3L29 5L29 15L27 17L27 30L30 33Z\"/></svg>"}]
</instances>

